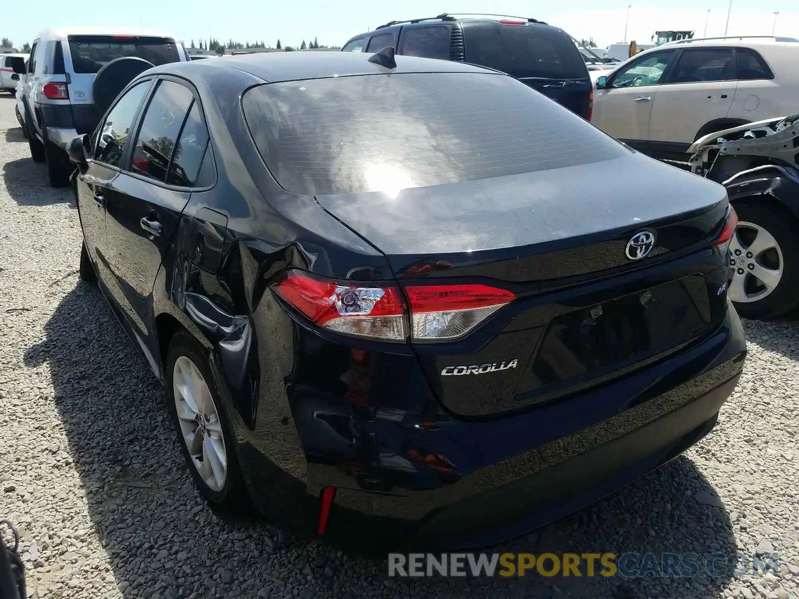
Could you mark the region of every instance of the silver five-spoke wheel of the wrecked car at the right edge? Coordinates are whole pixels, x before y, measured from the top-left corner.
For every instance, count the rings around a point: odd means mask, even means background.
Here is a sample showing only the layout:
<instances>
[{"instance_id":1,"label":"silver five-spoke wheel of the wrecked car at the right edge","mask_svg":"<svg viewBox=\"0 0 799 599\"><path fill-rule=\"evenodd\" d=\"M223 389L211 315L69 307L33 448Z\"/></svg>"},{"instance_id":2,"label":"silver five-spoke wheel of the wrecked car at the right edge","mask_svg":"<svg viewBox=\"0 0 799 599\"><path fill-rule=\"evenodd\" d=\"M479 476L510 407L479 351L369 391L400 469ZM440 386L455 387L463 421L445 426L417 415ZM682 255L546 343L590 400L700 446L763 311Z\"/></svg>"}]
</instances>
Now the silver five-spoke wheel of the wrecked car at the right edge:
<instances>
[{"instance_id":1,"label":"silver five-spoke wheel of the wrecked car at the right edge","mask_svg":"<svg viewBox=\"0 0 799 599\"><path fill-rule=\"evenodd\" d=\"M757 256L753 255L750 259L745 248L741 248L741 256L735 255L733 240L733 245L730 246L730 251L733 252L731 257L733 260L742 260L742 263L735 267L729 298L743 318L772 319L785 315L799 306L799 220L788 216L787 209L775 200L765 198L737 200L733 202L733 207L739 222L736 237L741 240L742 245L748 248L754 236L765 232L773 238L776 247L758 252ZM741 294L738 292L740 287L736 287L737 277L743 278L745 291L760 287L757 280L752 280L752 276L749 276L750 261L756 262L756 265L768 266L772 270L778 269L781 276L776 286L770 292L764 293L761 299L739 301ZM744 271L743 275L741 270ZM753 292L751 296L756 298L757 293Z\"/></svg>"}]
</instances>

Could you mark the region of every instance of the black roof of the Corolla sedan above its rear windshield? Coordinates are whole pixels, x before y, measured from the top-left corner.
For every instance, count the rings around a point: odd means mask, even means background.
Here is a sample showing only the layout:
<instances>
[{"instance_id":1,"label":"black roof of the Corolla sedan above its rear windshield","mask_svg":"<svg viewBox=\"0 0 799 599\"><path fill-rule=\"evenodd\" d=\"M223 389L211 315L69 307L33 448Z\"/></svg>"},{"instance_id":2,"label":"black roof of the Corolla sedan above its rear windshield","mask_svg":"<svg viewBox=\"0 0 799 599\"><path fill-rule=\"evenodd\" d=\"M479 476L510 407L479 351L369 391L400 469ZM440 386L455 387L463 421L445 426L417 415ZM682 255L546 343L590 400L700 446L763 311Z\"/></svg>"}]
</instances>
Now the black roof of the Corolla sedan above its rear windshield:
<instances>
[{"instance_id":1,"label":"black roof of the Corolla sedan above its rear windshield","mask_svg":"<svg viewBox=\"0 0 799 599\"><path fill-rule=\"evenodd\" d=\"M360 52L270 52L225 56L215 61L174 62L158 70L191 77L194 73L201 76L208 72L200 69L237 69L265 82L381 73L497 73L463 62L399 55L396 69L385 69L368 61L370 56Z\"/></svg>"}]
</instances>

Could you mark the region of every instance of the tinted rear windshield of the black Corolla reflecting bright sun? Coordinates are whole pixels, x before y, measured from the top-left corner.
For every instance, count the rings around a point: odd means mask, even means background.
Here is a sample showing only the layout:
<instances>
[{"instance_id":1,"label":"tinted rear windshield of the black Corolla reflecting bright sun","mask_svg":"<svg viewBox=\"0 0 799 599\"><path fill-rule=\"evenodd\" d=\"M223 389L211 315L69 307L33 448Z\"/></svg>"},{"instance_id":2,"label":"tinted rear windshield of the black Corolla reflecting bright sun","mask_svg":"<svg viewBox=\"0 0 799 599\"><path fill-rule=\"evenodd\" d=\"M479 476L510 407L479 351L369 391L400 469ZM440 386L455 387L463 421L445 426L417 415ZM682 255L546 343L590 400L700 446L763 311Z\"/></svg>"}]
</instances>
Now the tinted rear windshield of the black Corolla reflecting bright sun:
<instances>
[{"instance_id":1,"label":"tinted rear windshield of the black Corolla reflecting bright sun","mask_svg":"<svg viewBox=\"0 0 799 599\"><path fill-rule=\"evenodd\" d=\"M243 107L272 175L289 192L308 195L503 177L626 153L554 101L499 74L272 83L244 93Z\"/></svg>"}]
</instances>

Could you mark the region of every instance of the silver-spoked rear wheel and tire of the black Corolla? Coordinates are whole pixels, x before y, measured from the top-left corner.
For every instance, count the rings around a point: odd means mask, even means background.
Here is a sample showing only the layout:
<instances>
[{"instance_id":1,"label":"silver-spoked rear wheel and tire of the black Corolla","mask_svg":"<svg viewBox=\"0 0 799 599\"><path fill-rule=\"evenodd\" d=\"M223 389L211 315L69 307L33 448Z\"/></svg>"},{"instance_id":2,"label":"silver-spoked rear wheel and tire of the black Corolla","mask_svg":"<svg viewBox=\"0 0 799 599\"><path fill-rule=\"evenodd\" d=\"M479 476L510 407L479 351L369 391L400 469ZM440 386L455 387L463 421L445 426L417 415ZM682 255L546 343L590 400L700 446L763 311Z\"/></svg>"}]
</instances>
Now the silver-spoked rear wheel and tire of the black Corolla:
<instances>
[{"instance_id":1,"label":"silver-spoked rear wheel and tire of the black Corolla","mask_svg":"<svg viewBox=\"0 0 799 599\"><path fill-rule=\"evenodd\" d=\"M208 351L189 333L178 331L169 343L165 374L169 413L194 484L212 508L240 513L240 509L247 504L248 495L238 464L233 430L211 375ZM190 389L187 381L191 382ZM210 401L210 405L197 405L193 397L197 390L201 390L201 401ZM204 420L202 425L198 420L200 412ZM189 420L191 415L197 420ZM201 442L193 443L190 450L191 441L187 441L187 438L189 435L195 438L201 434L201 430L205 432ZM201 449L198 451L198 448ZM224 477L219 475L218 468L221 455L225 457Z\"/></svg>"}]
</instances>

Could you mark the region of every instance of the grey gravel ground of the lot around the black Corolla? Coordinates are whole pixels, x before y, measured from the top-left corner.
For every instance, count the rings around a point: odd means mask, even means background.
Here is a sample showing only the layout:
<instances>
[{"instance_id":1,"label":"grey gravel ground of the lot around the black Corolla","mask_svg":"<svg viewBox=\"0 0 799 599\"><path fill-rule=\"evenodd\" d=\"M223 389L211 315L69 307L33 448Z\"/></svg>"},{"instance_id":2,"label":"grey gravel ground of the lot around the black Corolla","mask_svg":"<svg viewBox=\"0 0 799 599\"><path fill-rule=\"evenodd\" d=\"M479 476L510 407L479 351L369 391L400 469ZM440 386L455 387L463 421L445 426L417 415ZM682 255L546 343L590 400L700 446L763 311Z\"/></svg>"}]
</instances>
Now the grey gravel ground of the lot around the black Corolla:
<instances>
[{"instance_id":1,"label":"grey gravel ground of the lot around the black Corolla","mask_svg":"<svg viewBox=\"0 0 799 599\"><path fill-rule=\"evenodd\" d=\"M46 184L0 95L0 517L31 597L799 597L797 320L745 323L749 361L686 456L499 551L776 552L777 576L387 579L382 561L217 518L161 388L78 282L70 190Z\"/></svg>"}]
</instances>

